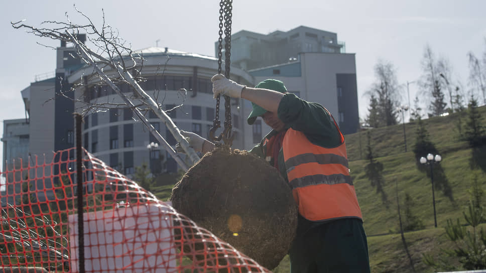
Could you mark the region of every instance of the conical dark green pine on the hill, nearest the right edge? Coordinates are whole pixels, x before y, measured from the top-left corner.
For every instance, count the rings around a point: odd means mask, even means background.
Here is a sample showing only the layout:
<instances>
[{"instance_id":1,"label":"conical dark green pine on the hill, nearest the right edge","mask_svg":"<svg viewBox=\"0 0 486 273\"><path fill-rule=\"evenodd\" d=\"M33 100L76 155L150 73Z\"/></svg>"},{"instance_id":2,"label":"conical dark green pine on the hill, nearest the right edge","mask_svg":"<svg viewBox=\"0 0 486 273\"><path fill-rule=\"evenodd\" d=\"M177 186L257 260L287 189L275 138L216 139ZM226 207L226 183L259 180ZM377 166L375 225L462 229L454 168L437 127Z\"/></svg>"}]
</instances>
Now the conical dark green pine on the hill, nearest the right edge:
<instances>
[{"instance_id":1,"label":"conical dark green pine on the hill, nearest the right edge","mask_svg":"<svg viewBox=\"0 0 486 273\"><path fill-rule=\"evenodd\" d=\"M486 130L481 124L481 114L477 110L477 100L474 98L474 95L471 96L469 101L467 116L468 119L464 131L465 140L469 142L470 147L484 145Z\"/></svg>"}]
</instances>

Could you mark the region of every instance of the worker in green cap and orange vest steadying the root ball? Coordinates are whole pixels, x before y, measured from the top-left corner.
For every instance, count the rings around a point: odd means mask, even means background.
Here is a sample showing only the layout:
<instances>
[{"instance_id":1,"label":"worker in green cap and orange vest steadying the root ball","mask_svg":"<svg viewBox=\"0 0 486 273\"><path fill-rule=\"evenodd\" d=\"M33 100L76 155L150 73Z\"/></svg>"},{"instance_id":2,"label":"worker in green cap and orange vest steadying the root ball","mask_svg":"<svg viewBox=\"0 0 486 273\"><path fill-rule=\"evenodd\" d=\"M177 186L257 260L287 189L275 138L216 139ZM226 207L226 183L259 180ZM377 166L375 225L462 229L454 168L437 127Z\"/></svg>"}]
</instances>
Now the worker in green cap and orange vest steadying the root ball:
<instances>
[{"instance_id":1,"label":"worker in green cap and orange vest steadying the root ball","mask_svg":"<svg viewBox=\"0 0 486 273\"><path fill-rule=\"evenodd\" d=\"M227 95L252 102L248 124L261 117L272 128L251 152L280 171L299 208L296 237L289 251L290 271L370 272L344 137L329 111L288 93L278 80L267 79L255 88L221 74L211 81L214 97ZM213 143L195 133L182 134L197 151L214 149Z\"/></svg>"}]
</instances>

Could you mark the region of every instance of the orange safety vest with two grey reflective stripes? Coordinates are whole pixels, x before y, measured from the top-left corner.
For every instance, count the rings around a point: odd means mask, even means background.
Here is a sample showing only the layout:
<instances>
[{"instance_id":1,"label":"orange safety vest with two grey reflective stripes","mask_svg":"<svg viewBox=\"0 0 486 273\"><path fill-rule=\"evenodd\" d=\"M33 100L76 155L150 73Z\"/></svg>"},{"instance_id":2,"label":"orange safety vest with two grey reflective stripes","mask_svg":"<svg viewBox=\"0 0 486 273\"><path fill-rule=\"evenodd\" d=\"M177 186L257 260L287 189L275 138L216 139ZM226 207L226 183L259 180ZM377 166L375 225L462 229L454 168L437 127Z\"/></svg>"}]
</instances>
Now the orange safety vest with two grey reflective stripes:
<instances>
[{"instance_id":1,"label":"orange safety vest with two grey reflective stripes","mask_svg":"<svg viewBox=\"0 0 486 273\"><path fill-rule=\"evenodd\" d=\"M337 127L337 125L336 125ZM338 129L339 130L339 129ZM282 143L285 167L299 213L308 220L362 219L349 176L346 145L324 148L289 128Z\"/></svg>"}]
</instances>

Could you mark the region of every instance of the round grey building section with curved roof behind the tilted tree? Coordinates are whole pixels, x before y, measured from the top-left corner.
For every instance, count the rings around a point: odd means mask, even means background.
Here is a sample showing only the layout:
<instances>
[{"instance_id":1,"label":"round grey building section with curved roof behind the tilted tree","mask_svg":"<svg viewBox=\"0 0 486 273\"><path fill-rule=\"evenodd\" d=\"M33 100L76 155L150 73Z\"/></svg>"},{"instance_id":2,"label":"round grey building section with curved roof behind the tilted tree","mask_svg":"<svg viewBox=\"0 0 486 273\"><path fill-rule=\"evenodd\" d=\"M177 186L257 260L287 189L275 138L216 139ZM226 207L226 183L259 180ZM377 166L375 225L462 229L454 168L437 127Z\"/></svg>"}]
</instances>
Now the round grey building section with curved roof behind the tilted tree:
<instances>
[{"instance_id":1,"label":"round grey building section with curved roof behind the tilted tree","mask_svg":"<svg viewBox=\"0 0 486 273\"><path fill-rule=\"evenodd\" d=\"M217 73L217 59L156 47L140 50L139 53L143 53L144 56L144 67L140 76L145 81L140 83L141 87L165 110L180 106L168 112L180 129L207 138L215 117L215 100L210 78ZM106 70L106 73L109 74L110 71ZM69 82L79 83L83 75L85 71L80 69L69 76ZM252 76L239 68L231 69L231 78L244 84L253 84ZM76 111L84 111L87 108L85 103L109 101L112 105L124 104L111 88L100 85L97 78L93 77L93 80L86 84L87 86L76 89L74 96L84 98L84 102L75 104ZM130 92L128 86L121 85L120 88L122 92ZM232 99L231 120L235 134L233 148L238 149L244 148L248 139L242 128L244 117L241 111L241 100ZM152 111L147 111L147 116L169 145L175 146L175 139L164 123ZM222 125L222 97L219 118ZM141 122L134 119L137 118L134 117L132 109L126 106L106 111L89 111L84 118L84 147L97 158L127 175L132 174L134 168L144 162L155 174L176 171L175 160L170 158L161 146L157 149L147 148L150 143L157 143L157 140Z\"/></svg>"}]
</instances>

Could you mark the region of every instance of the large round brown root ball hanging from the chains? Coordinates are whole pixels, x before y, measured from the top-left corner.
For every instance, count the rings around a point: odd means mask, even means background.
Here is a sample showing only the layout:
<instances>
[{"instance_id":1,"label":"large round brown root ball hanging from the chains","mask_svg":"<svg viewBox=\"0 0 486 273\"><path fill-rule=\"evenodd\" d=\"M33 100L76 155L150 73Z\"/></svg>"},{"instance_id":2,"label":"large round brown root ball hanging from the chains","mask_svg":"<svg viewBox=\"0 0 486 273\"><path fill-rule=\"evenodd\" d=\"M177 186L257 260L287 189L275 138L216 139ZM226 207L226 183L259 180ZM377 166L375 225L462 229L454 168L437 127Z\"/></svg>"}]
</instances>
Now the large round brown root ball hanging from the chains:
<instances>
[{"instance_id":1,"label":"large round brown root ball hanging from the chains","mask_svg":"<svg viewBox=\"0 0 486 273\"><path fill-rule=\"evenodd\" d=\"M173 207L199 226L275 268L288 253L298 209L277 169L246 152L207 153L172 189Z\"/></svg>"}]
</instances>

